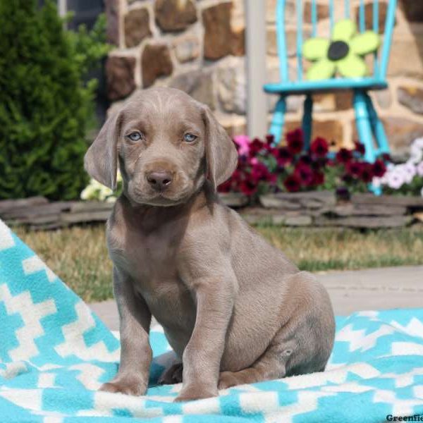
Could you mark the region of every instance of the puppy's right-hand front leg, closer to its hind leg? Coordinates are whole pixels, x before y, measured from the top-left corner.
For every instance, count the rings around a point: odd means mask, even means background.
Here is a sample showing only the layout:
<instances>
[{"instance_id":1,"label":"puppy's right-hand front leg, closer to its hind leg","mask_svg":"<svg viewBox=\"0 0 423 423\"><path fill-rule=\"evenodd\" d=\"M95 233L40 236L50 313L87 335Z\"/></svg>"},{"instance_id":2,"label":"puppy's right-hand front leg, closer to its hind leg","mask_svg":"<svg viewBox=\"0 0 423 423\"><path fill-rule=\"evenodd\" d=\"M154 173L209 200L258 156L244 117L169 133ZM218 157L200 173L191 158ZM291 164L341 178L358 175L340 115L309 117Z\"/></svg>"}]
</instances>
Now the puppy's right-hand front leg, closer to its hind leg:
<instances>
[{"instance_id":1,"label":"puppy's right-hand front leg, closer to its hind leg","mask_svg":"<svg viewBox=\"0 0 423 423\"><path fill-rule=\"evenodd\" d=\"M228 278L195 281L197 317L183 352L183 388L176 401L218 395L221 357L235 297L235 283Z\"/></svg>"}]
</instances>

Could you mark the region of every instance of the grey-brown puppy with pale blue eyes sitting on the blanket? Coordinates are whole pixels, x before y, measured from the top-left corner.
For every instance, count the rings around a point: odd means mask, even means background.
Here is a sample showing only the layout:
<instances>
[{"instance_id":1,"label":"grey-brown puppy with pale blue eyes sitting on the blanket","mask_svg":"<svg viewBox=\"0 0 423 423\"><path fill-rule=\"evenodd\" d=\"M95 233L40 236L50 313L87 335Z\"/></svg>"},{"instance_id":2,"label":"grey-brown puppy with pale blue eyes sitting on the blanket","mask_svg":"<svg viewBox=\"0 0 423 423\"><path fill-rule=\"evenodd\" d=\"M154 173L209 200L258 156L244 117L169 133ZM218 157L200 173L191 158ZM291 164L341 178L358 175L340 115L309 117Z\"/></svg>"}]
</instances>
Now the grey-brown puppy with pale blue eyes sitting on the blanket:
<instances>
[{"instance_id":1,"label":"grey-brown puppy with pale blue eyes sitting on the blanket","mask_svg":"<svg viewBox=\"0 0 423 423\"><path fill-rule=\"evenodd\" d=\"M216 187L237 152L211 111L153 88L111 116L85 156L92 178L123 194L107 222L121 363L103 391L143 395L152 316L179 362L176 401L218 389L324 370L334 338L326 290L233 210Z\"/></svg>"}]
</instances>

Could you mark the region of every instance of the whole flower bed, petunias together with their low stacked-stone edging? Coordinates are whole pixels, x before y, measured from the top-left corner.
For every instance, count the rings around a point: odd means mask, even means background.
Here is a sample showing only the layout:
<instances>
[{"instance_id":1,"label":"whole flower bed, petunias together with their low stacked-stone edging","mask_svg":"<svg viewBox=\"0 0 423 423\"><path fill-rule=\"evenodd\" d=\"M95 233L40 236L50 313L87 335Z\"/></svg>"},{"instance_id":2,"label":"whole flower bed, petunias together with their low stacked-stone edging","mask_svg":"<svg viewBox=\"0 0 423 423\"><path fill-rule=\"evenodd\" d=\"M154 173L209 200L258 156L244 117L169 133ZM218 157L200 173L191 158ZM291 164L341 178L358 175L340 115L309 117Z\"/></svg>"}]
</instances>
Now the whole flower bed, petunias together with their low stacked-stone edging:
<instances>
[{"instance_id":1,"label":"whole flower bed, petunias together with their low stacked-stone edging","mask_svg":"<svg viewBox=\"0 0 423 423\"><path fill-rule=\"evenodd\" d=\"M286 145L274 146L270 136L234 141L238 167L219 194L250 223L381 228L423 221L423 138L412 143L404 164L387 156L371 164L359 143L331 153L320 137L305 152L301 130L288 133ZM385 195L369 193L369 183ZM105 221L121 188L118 176L116 192L91 180L81 193L89 201L0 201L0 217L40 229Z\"/></svg>"}]
</instances>

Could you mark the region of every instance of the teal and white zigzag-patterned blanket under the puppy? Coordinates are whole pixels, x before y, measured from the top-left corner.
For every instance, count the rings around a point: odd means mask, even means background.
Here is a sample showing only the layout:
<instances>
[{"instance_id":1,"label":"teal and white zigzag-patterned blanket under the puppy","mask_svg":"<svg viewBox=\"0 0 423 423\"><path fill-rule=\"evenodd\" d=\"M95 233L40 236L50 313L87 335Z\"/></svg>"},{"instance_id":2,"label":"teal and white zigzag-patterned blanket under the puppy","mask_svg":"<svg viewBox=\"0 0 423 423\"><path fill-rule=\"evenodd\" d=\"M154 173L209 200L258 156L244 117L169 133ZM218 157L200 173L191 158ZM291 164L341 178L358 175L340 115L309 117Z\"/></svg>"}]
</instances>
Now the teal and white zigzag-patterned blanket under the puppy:
<instances>
[{"instance_id":1,"label":"teal and white zigzag-patterned blanket under the puppy","mask_svg":"<svg viewBox=\"0 0 423 423\"><path fill-rule=\"evenodd\" d=\"M159 357L146 396L98 392L118 368L118 340L0 221L0 422L362 423L423 415L423 309L359 312L336 323L326 372L173 403L180 385L154 384L164 369ZM151 342L155 356L169 350L159 329Z\"/></svg>"}]
</instances>

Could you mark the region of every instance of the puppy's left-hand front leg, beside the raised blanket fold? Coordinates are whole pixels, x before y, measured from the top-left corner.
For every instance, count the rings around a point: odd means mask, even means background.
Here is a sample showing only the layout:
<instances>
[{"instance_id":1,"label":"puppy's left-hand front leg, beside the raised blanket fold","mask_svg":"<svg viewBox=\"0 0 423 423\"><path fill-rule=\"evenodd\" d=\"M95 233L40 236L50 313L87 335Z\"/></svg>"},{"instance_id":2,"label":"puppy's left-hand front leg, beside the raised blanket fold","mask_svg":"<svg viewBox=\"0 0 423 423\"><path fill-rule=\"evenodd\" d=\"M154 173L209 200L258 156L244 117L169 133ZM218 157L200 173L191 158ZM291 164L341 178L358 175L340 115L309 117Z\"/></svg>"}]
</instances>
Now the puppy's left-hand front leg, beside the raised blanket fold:
<instances>
[{"instance_id":1,"label":"puppy's left-hand front leg, beside the raised blanket fold","mask_svg":"<svg viewBox=\"0 0 423 423\"><path fill-rule=\"evenodd\" d=\"M114 268L114 293L121 333L121 362L113 380L101 391L144 395L149 379L152 348L149 345L151 313L145 300L135 294L133 282Z\"/></svg>"}]
</instances>

